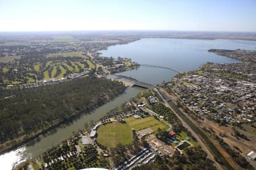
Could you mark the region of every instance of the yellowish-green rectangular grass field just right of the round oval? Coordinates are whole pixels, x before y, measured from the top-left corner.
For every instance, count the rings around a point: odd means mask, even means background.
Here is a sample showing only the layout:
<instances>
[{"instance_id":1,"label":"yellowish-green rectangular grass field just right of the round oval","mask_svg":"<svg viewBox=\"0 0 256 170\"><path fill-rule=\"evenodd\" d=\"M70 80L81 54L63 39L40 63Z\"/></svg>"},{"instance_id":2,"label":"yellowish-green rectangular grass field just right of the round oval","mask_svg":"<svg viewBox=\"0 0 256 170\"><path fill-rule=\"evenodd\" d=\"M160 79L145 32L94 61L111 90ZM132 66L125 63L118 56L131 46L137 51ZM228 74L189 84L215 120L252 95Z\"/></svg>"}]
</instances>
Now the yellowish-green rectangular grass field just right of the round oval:
<instances>
[{"instance_id":1,"label":"yellowish-green rectangular grass field just right of the round oval","mask_svg":"<svg viewBox=\"0 0 256 170\"><path fill-rule=\"evenodd\" d=\"M167 130L168 126L166 124L163 124L159 120L156 120L152 116L148 116L145 118L139 118L136 119L134 117L126 118L125 121L127 124L131 126L131 128L134 128L135 130L141 130L145 128L151 128L152 130L156 131L158 128Z\"/></svg>"}]
</instances>

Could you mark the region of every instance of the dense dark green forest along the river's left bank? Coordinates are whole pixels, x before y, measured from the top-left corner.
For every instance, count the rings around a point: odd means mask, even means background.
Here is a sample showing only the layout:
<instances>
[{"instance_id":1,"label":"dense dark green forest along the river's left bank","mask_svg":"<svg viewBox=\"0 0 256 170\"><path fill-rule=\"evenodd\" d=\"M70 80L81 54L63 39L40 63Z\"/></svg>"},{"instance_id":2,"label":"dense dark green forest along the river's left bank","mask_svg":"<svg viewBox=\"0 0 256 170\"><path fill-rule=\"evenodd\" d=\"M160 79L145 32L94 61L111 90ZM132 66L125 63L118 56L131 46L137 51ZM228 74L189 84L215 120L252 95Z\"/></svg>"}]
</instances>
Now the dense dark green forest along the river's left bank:
<instances>
[{"instance_id":1,"label":"dense dark green forest along the river's left bank","mask_svg":"<svg viewBox=\"0 0 256 170\"><path fill-rule=\"evenodd\" d=\"M94 77L34 89L0 89L0 142L89 113L123 90L120 82Z\"/></svg>"}]
</instances>

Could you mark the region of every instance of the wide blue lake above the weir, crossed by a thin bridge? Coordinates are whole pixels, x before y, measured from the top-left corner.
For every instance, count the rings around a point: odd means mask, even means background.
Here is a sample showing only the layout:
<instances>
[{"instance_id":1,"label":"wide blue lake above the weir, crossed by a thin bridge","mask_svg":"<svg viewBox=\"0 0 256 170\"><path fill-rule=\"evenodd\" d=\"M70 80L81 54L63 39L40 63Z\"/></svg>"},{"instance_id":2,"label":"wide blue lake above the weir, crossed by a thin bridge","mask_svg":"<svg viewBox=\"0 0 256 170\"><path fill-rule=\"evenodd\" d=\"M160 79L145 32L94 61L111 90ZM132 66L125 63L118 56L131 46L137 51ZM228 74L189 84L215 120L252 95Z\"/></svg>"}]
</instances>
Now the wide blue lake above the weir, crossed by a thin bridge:
<instances>
[{"instance_id":1,"label":"wide blue lake above the weir, crossed by a thin bridge","mask_svg":"<svg viewBox=\"0 0 256 170\"><path fill-rule=\"evenodd\" d=\"M255 50L256 41L246 40L194 40L194 39L141 39L129 44L109 46L99 51L106 57L128 57L140 64L170 67L179 71L198 69L206 62L236 63L236 59L209 53L208 49ZM140 67L121 73L141 82L158 84L170 80L174 71L152 67Z\"/></svg>"}]
</instances>

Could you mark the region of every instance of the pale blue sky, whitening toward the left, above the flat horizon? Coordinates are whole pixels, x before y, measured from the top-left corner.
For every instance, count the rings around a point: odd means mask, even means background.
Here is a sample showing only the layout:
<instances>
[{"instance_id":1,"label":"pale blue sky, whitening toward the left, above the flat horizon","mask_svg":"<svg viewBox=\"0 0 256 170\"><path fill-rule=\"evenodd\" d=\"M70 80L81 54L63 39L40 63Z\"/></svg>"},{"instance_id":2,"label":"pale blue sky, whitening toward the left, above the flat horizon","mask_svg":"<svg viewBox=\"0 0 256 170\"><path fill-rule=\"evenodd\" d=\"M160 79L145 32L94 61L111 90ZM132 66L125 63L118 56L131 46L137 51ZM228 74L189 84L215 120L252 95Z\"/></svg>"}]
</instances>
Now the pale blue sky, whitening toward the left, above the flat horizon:
<instances>
[{"instance_id":1,"label":"pale blue sky, whitening toward the left, above the flat horizon","mask_svg":"<svg viewBox=\"0 0 256 170\"><path fill-rule=\"evenodd\" d=\"M256 32L256 0L0 0L0 31Z\"/></svg>"}]
</instances>

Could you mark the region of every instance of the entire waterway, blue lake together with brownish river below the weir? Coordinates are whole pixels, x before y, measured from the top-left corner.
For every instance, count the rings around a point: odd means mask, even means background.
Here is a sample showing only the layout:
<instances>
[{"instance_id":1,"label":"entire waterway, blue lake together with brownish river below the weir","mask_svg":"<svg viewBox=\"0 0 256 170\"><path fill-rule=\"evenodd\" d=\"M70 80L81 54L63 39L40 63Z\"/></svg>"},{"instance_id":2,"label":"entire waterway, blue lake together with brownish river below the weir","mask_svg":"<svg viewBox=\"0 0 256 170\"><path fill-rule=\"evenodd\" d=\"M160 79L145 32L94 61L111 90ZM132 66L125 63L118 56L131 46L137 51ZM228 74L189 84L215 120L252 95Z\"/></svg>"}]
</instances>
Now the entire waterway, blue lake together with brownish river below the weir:
<instances>
[{"instance_id":1,"label":"entire waterway, blue lake together with brownish river below the weir","mask_svg":"<svg viewBox=\"0 0 256 170\"><path fill-rule=\"evenodd\" d=\"M170 67L179 71L198 69L206 62L236 63L236 59L217 56L207 50L216 49L250 49L255 50L256 41L245 40L192 40L192 39L141 39L129 44L109 46L101 50L102 56L117 58L129 57L132 61L141 64L151 64ZM152 67L140 67L136 70L125 71L122 75L132 76L142 82L150 84L168 81L176 75L174 71ZM73 131L84 128L85 122L97 121L106 112L129 101L143 89L138 87L127 88L123 94L114 100L96 109L92 114L85 114L79 120L65 128L59 128L56 133L42 137L33 146L20 147L14 151L0 155L1 169L11 169L14 163L20 163L27 158L35 158L53 145L57 145L70 137Z\"/></svg>"}]
</instances>

